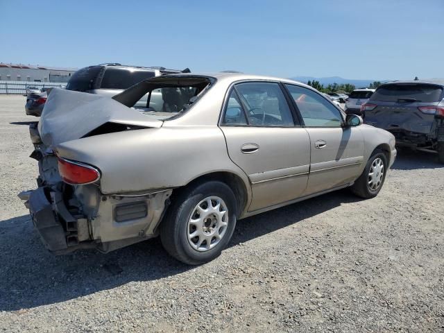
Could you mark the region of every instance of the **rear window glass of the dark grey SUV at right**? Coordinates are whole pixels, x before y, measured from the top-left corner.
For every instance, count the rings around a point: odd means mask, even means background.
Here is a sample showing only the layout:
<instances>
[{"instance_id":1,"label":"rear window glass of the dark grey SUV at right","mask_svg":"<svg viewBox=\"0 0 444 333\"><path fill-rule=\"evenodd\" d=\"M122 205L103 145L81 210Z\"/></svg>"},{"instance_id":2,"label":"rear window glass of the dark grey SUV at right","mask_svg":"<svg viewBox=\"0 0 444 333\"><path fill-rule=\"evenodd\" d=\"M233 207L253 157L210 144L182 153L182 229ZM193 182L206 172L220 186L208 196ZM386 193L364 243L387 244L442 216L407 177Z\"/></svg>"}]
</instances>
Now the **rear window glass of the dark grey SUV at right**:
<instances>
[{"instance_id":1,"label":"rear window glass of the dark grey SUV at right","mask_svg":"<svg viewBox=\"0 0 444 333\"><path fill-rule=\"evenodd\" d=\"M436 85L383 85L376 89L371 100L396 102L399 99L412 99L418 102L438 102L442 92L443 88Z\"/></svg>"}]
</instances>

